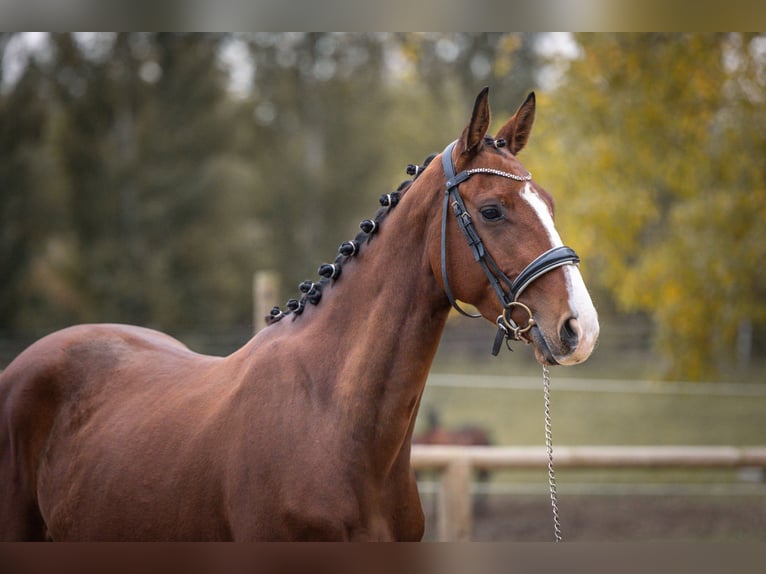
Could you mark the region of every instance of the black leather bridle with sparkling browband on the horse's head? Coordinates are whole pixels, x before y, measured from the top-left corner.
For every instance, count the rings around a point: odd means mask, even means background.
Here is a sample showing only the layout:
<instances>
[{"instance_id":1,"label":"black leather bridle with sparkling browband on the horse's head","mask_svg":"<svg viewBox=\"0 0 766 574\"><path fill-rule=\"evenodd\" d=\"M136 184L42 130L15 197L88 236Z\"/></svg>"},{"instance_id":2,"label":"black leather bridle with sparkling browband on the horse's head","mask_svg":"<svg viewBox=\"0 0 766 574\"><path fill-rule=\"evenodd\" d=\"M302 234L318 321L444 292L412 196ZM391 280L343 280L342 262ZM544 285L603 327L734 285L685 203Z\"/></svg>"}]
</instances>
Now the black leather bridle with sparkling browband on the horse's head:
<instances>
[{"instance_id":1,"label":"black leather bridle with sparkling browband on the horse's head","mask_svg":"<svg viewBox=\"0 0 766 574\"><path fill-rule=\"evenodd\" d=\"M452 212L455 214L458 227L460 227L460 230L468 241L474 259L481 265L482 269L484 269L484 273L486 274L490 285L492 285L492 288L495 290L495 293L503 306L503 312L497 318L497 335L495 336L495 342L492 345L492 354L497 355L500 352L500 346L503 341L506 342L506 345L510 349L511 341L526 340L524 339L524 334L535 325L534 313L529 307L519 301L522 292L535 279L544 275L548 271L563 265L576 265L580 262L580 258L577 253L569 247L563 245L554 247L537 257L527 265L521 273L519 273L516 279L511 280L503 270L500 269L484 247L484 242L481 240L481 237L479 237L471 215L468 213L463 198L460 196L458 186L472 175L479 173L496 175L515 181L530 181L532 175L529 173L527 175L517 175L515 173L488 167L467 169L456 174L455 162L452 159L452 150L456 143L457 141L452 142L444 149L444 152L442 152L442 167L444 168L444 175L447 178L441 227L442 283L444 284L444 292L446 293L450 304L457 309L459 313L474 319L481 317L481 315L474 315L462 309L452 294L452 290L449 286L449 279L447 277L447 213L450 206L452 206ZM503 287L504 285L507 290ZM516 324L511 318L515 307L521 308L528 315L527 323L523 326Z\"/></svg>"}]
</instances>

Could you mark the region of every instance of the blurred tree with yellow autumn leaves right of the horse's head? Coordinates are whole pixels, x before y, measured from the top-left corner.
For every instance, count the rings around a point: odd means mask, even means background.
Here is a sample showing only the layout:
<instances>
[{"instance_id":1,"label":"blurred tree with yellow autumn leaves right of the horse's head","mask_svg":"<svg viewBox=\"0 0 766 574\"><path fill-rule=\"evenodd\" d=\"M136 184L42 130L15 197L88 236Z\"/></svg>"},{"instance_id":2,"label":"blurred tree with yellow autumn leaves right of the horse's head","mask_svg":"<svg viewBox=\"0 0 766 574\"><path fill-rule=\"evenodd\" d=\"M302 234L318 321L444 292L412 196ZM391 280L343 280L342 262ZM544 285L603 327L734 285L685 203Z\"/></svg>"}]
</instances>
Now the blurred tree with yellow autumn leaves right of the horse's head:
<instances>
[{"instance_id":1,"label":"blurred tree with yellow autumn leaves right of the horse's head","mask_svg":"<svg viewBox=\"0 0 766 574\"><path fill-rule=\"evenodd\" d=\"M577 41L531 153L589 275L654 318L664 376L711 377L766 325L764 37Z\"/></svg>"}]
</instances>

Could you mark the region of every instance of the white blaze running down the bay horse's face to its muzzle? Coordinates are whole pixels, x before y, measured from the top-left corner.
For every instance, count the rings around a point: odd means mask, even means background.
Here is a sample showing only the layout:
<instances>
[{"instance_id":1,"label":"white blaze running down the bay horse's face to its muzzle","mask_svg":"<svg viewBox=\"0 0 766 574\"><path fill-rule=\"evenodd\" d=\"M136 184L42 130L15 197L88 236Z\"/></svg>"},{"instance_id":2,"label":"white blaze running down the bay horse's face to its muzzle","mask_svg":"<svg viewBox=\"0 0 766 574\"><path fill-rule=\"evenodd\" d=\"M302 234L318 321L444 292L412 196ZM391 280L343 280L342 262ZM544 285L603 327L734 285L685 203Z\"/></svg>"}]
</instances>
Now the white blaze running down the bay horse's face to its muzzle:
<instances>
[{"instance_id":1,"label":"white blaze running down the bay horse's face to its muzzle","mask_svg":"<svg viewBox=\"0 0 766 574\"><path fill-rule=\"evenodd\" d=\"M553 217L548 209L548 205L537 194L534 188L527 183L524 191L521 192L521 198L526 201L537 214L540 223L543 225L551 240L551 247L560 247L564 245L553 224ZM593 306L588 289L585 287L580 270L576 265L565 265L562 267L567 282L567 291L569 292L569 309L572 317L576 318L582 330L580 342L571 355L566 357L556 357L562 365L571 365L581 363L587 359L598 339L598 314Z\"/></svg>"}]
</instances>

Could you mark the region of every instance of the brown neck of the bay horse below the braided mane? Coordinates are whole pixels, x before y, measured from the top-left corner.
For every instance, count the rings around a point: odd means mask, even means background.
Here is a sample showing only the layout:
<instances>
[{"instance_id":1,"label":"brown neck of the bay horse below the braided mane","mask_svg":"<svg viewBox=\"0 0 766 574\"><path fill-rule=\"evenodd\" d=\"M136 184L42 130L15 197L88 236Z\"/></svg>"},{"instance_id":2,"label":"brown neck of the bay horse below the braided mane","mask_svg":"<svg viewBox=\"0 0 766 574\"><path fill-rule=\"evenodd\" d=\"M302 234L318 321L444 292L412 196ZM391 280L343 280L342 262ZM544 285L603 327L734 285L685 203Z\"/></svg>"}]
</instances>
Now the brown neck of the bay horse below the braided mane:
<instances>
[{"instance_id":1,"label":"brown neck of the bay horse below the braided mane","mask_svg":"<svg viewBox=\"0 0 766 574\"><path fill-rule=\"evenodd\" d=\"M266 330L283 328L333 424L353 437L359 456L375 453L376 466L390 466L409 448L449 312L426 252L429 238L438 241L439 193L425 175L325 287L319 305Z\"/></svg>"}]
</instances>

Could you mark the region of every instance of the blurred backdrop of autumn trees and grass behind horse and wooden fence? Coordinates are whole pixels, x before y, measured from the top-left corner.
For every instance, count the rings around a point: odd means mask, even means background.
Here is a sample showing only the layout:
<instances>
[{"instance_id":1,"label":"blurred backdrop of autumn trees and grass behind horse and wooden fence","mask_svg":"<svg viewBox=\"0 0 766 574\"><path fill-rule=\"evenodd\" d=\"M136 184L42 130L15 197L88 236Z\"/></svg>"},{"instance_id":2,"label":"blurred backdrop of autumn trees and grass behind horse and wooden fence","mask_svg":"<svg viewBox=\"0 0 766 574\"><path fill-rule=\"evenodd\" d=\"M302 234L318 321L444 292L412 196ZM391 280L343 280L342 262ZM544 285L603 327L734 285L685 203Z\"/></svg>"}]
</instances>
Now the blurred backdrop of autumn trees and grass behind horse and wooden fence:
<instances>
[{"instance_id":1,"label":"blurred backdrop of autumn trees and grass behind horse and wooden fence","mask_svg":"<svg viewBox=\"0 0 766 574\"><path fill-rule=\"evenodd\" d=\"M559 443L766 444L758 32L0 33L0 368L91 321L233 351L262 326L254 273L294 296L484 85L495 127L536 92L521 160L602 319L592 359L554 369ZM450 320L423 413L541 444L538 367L523 347L493 359L493 334ZM766 536L762 473L663 472L562 473L565 528ZM547 518L518 527L537 521L518 517L544 503L543 474L490 484L477 537L547 538Z\"/></svg>"}]
</instances>

